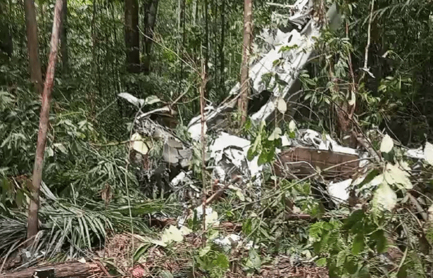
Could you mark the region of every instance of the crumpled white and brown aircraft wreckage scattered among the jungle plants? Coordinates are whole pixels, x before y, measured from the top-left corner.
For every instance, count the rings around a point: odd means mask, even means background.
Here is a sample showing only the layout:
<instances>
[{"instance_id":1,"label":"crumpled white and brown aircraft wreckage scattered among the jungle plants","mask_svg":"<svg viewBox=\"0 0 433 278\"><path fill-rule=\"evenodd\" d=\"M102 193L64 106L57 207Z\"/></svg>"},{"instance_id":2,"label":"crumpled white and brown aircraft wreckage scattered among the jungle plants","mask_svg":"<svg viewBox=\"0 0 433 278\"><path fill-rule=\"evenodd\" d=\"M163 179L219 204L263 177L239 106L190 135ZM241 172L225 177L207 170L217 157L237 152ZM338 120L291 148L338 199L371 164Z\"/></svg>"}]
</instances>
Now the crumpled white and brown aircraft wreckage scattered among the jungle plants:
<instances>
[{"instance_id":1,"label":"crumpled white and brown aircraft wreckage scattered among the jungle plants","mask_svg":"<svg viewBox=\"0 0 433 278\"><path fill-rule=\"evenodd\" d=\"M256 125L263 121L271 122L279 103L284 102L285 110L294 111L291 107L296 105L294 103L301 94L299 74L313 54L315 39L320 37L321 23L313 18L312 7L313 1L296 1L291 6L287 26L261 32L261 38L268 44L265 48L268 52L262 53L252 63L249 72L251 98L265 101L263 106L249 111L249 117ZM327 12L327 22L330 27L340 24L341 18L335 6ZM281 51L282 48L289 51ZM275 64L276 60L282 63ZM272 78L269 84L265 84L262 77L269 73ZM277 78L285 86L274 86ZM268 89L270 87L273 89ZM206 164L212 169L213 180L218 180L220 184L240 177L244 184L252 183L260 187L265 165L259 165L257 156L252 160L247 159L251 141L227 132L227 115L236 109L239 89L238 83L218 107L208 106L205 109L204 127L208 141ZM149 103L149 100L137 99L127 93L119 96L138 107ZM170 108L141 113L134 120L132 161L142 168L139 179L146 184L147 191L153 187L180 192L179 198L184 200L200 200L201 182L194 181L190 166L194 147L198 146L196 143L201 139L201 115L193 118L187 126L192 141L184 141L170 127L152 120L153 114L163 112L170 112ZM297 130L295 133L294 138L281 136L282 149L275 152L276 161L272 165L275 174L287 179L305 179L321 171L321 182L327 184L326 191L332 201L347 201L349 187L356 182L357 177L365 175L369 156L375 156L375 153L340 146L329 135L322 136L311 129ZM151 157L151 149L155 146L152 141L162 142L162 156L157 161ZM407 155L418 158L414 150L408 151ZM190 190L180 190L185 185Z\"/></svg>"}]
</instances>

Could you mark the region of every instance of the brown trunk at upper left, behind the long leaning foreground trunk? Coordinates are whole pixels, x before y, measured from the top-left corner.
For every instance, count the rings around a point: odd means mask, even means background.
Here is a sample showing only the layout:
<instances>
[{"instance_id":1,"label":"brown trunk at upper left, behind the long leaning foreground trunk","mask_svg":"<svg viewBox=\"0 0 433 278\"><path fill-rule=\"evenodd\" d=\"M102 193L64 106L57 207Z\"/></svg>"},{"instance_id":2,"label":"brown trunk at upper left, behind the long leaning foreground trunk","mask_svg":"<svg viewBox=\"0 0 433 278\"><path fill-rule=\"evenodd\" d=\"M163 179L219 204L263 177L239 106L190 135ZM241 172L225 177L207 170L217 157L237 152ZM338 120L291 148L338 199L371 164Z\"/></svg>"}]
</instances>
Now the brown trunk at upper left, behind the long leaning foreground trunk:
<instances>
[{"instance_id":1,"label":"brown trunk at upper left, behind the long leaning foreground trunk","mask_svg":"<svg viewBox=\"0 0 433 278\"><path fill-rule=\"evenodd\" d=\"M39 94L44 91L42 83L41 61L39 61L39 44L37 42L36 10L33 0L24 0L25 26L27 29L27 49L30 61L30 80Z\"/></svg>"}]
</instances>

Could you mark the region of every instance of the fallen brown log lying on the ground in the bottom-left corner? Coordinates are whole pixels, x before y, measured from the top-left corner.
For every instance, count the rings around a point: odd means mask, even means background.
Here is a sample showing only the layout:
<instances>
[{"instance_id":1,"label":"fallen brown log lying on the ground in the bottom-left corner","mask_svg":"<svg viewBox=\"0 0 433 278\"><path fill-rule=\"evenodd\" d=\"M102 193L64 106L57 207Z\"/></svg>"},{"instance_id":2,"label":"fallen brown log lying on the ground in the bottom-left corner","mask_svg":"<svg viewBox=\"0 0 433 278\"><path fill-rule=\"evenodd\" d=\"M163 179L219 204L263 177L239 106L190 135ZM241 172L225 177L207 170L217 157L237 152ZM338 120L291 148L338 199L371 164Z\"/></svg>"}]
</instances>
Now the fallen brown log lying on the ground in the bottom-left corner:
<instances>
[{"instance_id":1,"label":"fallen brown log lying on the ground in the bottom-left corner","mask_svg":"<svg viewBox=\"0 0 433 278\"><path fill-rule=\"evenodd\" d=\"M54 272L54 276L52 273ZM0 278L33 278L33 277L54 277L54 278L86 278L94 275L103 277L106 271L102 270L97 263L66 262L54 265L29 267L25 270L0 274ZM42 276L45 275L45 276Z\"/></svg>"}]
</instances>

